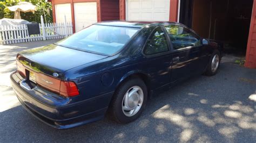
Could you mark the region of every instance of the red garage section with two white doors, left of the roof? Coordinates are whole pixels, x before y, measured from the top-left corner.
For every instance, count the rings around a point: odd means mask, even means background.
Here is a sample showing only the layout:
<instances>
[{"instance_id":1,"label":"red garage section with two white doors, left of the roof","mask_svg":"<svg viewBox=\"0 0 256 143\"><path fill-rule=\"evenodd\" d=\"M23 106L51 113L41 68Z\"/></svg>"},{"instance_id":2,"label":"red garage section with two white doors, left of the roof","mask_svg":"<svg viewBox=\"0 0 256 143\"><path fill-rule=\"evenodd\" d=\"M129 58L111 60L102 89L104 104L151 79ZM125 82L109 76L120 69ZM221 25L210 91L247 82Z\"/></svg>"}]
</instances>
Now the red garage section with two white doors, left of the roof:
<instances>
[{"instance_id":1,"label":"red garage section with two white doors, left of the roof","mask_svg":"<svg viewBox=\"0 0 256 143\"><path fill-rule=\"evenodd\" d=\"M48 0L53 22L72 22L73 33L97 22L119 20L119 0Z\"/></svg>"}]
</instances>

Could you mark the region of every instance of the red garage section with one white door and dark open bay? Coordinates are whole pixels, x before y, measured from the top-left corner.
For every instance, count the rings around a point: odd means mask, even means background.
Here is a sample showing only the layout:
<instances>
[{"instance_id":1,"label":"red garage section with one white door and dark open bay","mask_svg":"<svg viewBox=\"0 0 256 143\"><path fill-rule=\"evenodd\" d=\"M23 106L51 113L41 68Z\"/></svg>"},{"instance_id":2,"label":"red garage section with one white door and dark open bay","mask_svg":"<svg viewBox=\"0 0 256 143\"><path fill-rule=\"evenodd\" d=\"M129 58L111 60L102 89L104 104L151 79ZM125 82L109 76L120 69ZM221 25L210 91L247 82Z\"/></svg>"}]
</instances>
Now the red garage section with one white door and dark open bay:
<instances>
[{"instance_id":1,"label":"red garage section with one white door and dark open bay","mask_svg":"<svg viewBox=\"0 0 256 143\"><path fill-rule=\"evenodd\" d=\"M165 21L169 16L169 21L183 23L201 37L222 42L226 53L246 59L245 67L256 68L256 1L119 0L119 4L121 20ZM169 13L164 12L169 5ZM166 15L157 17L158 12Z\"/></svg>"}]
</instances>

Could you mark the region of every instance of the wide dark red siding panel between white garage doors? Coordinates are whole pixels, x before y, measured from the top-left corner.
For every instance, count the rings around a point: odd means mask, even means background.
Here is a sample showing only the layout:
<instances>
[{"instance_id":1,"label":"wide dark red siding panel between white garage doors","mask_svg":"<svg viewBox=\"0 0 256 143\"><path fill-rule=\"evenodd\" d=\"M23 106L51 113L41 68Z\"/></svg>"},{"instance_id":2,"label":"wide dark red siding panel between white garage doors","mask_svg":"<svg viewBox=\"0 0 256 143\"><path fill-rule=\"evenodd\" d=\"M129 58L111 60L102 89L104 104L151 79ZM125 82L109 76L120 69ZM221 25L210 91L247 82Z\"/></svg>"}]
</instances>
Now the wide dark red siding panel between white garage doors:
<instances>
[{"instance_id":1,"label":"wide dark red siding panel between white garage doors","mask_svg":"<svg viewBox=\"0 0 256 143\"><path fill-rule=\"evenodd\" d=\"M101 0L101 20L119 20L119 0Z\"/></svg>"}]
</instances>

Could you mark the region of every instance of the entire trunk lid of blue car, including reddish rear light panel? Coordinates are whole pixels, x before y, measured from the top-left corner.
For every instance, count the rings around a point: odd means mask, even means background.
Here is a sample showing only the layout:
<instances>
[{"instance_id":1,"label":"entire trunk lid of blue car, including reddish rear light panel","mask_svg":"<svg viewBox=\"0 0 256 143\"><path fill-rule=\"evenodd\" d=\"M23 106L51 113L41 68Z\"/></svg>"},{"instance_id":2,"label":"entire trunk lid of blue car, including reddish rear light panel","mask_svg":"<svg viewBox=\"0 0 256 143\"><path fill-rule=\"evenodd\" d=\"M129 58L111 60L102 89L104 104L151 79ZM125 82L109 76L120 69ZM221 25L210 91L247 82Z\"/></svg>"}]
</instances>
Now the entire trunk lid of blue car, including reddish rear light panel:
<instances>
[{"instance_id":1,"label":"entire trunk lid of blue car, including reddish rear light panel","mask_svg":"<svg viewBox=\"0 0 256 143\"><path fill-rule=\"evenodd\" d=\"M33 48L17 54L17 70L27 82L59 94L66 70L107 58L57 45ZM30 87L32 88L32 87Z\"/></svg>"}]
</instances>

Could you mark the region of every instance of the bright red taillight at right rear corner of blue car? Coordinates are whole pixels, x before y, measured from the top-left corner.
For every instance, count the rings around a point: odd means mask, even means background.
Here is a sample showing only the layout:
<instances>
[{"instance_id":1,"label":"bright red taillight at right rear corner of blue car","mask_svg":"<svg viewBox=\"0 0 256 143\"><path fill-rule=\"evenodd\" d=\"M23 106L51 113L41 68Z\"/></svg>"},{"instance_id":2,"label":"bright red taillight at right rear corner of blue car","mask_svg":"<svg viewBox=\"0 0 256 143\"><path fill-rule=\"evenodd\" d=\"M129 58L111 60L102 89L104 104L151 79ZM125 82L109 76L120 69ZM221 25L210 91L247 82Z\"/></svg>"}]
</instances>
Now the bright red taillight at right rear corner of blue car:
<instances>
[{"instance_id":1,"label":"bright red taillight at right rear corner of blue car","mask_svg":"<svg viewBox=\"0 0 256 143\"><path fill-rule=\"evenodd\" d=\"M76 83L72 81L61 81L59 94L65 97L73 97L79 95Z\"/></svg>"}]
</instances>

